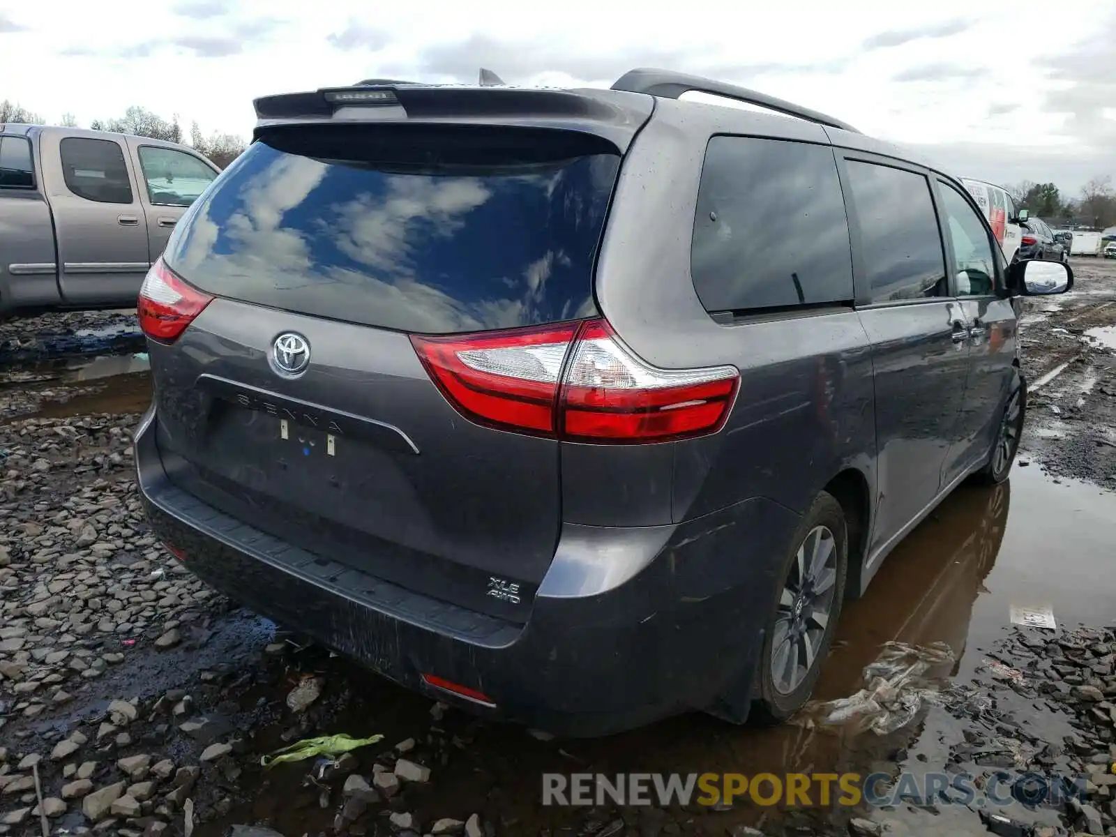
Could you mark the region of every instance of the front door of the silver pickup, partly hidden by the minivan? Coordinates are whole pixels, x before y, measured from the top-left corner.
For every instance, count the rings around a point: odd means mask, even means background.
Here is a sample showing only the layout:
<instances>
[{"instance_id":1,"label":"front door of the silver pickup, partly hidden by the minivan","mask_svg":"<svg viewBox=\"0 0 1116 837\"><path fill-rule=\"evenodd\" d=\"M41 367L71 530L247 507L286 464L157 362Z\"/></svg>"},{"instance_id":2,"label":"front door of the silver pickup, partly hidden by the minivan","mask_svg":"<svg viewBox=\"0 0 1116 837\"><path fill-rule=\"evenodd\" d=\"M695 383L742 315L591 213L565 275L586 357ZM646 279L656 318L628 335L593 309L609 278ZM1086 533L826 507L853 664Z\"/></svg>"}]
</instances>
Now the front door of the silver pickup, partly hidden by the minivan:
<instances>
[{"instance_id":1,"label":"front door of the silver pickup, partly hidden by the minivan","mask_svg":"<svg viewBox=\"0 0 1116 837\"><path fill-rule=\"evenodd\" d=\"M186 208L198 200L219 172L186 151L156 145L137 136L129 136L127 142L147 215L147 250L151 260L155 261L163 254Z\"/></svg>"}]
</instances>

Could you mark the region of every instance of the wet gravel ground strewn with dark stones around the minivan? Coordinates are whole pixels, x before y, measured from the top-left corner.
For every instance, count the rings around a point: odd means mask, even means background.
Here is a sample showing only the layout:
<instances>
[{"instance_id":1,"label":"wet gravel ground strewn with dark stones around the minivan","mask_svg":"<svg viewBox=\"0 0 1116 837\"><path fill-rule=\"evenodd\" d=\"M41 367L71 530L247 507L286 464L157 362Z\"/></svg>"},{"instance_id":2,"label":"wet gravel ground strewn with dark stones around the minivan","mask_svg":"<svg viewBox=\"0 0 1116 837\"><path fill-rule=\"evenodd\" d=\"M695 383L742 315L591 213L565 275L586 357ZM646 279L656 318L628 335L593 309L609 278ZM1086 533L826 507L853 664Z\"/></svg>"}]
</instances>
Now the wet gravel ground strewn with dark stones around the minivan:
<instances>
[{"instance_id":1,"label":"wet gravel ground strewn with dark stones around the minivan","mask_svg":"<svg viewBox=\"0 0 1116 837\"><path fill-rule=\"evenodd\" d=\"M1072 294L1028 301L1029 378L1069 365L1037 387L1022 461L1110 484L1114 452L1098 440L1116 437L1114 357L1086 333L1116 323L1116 305L1106 305L1116 301L1116 264L1075 269ZM845 768L860 772L1079 775L1089 781L1084 802L1016 807L1008 825L943 800L888 810L543 809L543 770L668 761L701 771L739 763L734 750L767 748L767 769L779 772L814 758L811 747L829 751L814 733L782 730L771 747L760 732L703 716L598 745L554 741L448 711L277 633L195 580L143 521L128 445L146 376L128 362L116 376L83 379L89 367L71 363L106 346L142 350L133 338L134 319L118 312L0 324L0 835L41 835L40 808L50 834L123 837L213 837L246 824L287 837L1116 834L1116 636L1103 626L1006 627L985 664L947 680L913 723L840 744ZM925 754L932 729L949 741L942 757ZM260 766L276 748L335 733L384 738L336 761ZM806 750L792 758L798 741ZM831 768L829 756L817 758L815 771Z\"/></svg>"}]
</instances>

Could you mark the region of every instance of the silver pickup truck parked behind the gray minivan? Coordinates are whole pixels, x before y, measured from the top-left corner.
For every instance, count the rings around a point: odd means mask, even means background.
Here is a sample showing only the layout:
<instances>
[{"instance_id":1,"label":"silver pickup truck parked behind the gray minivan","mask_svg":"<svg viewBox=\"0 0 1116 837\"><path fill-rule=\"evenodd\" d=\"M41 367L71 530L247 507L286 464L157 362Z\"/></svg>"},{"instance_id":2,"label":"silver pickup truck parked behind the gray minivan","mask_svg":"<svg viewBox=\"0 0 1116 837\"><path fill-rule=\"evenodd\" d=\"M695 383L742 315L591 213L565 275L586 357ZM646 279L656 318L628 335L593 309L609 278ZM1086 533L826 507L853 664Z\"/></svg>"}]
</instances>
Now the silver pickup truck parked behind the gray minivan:
<instances>
[{"instance_id":1,"label":"silver pickup truck parked behind the gray minivan","mask_svg":"<svg viewBox=\"0 0 1116 837\"><path fill-rule=\"evenodd\" d=\"M0 316L134 305L174 224L218 174L160 140L0 124Z\"/></svg>"}]
</instances>

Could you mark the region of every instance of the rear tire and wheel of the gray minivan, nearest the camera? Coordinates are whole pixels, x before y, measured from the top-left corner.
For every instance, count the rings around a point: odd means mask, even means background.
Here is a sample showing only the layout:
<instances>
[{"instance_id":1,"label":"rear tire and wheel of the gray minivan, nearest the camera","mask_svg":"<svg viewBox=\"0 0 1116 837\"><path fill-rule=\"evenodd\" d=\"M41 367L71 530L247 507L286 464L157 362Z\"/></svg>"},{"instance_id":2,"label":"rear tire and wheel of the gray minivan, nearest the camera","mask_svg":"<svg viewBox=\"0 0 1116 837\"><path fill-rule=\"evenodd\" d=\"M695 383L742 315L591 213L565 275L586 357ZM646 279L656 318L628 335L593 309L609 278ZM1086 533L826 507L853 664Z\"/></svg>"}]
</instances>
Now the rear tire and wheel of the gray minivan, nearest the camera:
<instances>
[{"instance_id":1,"label":"rear tire and wheel of the gray minivan, nearest the camera","mask_svg":"<svg viewBox=\"0 0 1116 837\"><path fill-rule=\"evenodd\" d=\"M827 542L831 545L828 550ZM824 564L811 567L811 556ZM750 714L753 722L781 723L809 700L840 617L847 569L845 512L831 494L822 491L804 516L780 565L779 587L756 673L757 696ZM807 579L814 579L806 590L801 589L804 570ZM819 627L818 616L822 614L825 625ZM804 656L809 656L809 664Z\"/></svg>"}]
</instances>

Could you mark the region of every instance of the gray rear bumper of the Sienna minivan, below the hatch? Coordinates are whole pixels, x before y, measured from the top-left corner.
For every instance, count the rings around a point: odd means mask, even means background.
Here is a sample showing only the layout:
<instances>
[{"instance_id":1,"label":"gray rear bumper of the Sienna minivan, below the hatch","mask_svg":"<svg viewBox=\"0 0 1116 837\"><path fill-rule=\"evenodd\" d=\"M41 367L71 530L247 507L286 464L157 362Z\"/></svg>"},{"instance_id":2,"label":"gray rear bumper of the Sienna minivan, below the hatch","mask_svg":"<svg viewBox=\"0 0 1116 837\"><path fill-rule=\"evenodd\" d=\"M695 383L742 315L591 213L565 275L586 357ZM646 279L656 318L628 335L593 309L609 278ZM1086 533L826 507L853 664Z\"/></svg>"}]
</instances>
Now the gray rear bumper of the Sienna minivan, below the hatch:
<instances>
[{"instance_id":1,"label":"gray rear bumper of the Sienna minivan, below the hatch","mask_svg":"<svg viewBox=\"0 0 1116 837\"><path fill-rule=\"evenodd\" d=\"M136 432L155 532L217 589L432 698L575 737L747 694L798 523L749 500L679 526L562 527L526 625L415 594L244 526L167 478L150 412ZM433 674L493 706L426 684ZM734 708L739 716L747 711Z\"/></svg>"}]
</instances>

